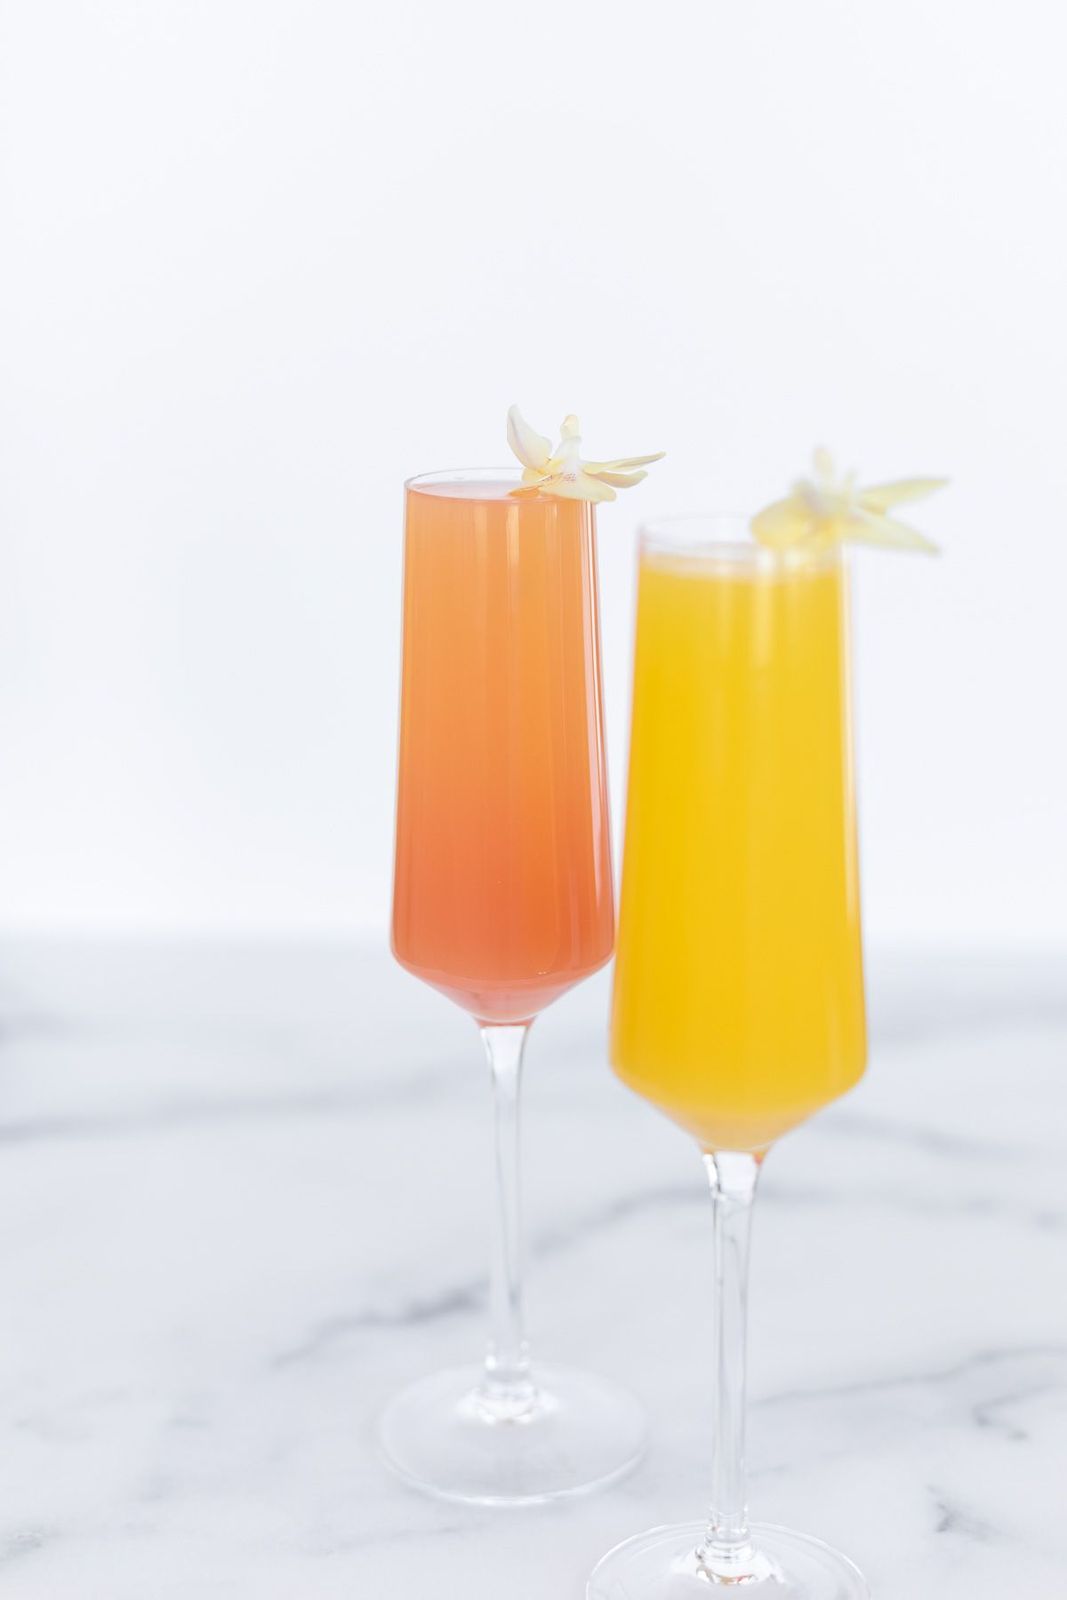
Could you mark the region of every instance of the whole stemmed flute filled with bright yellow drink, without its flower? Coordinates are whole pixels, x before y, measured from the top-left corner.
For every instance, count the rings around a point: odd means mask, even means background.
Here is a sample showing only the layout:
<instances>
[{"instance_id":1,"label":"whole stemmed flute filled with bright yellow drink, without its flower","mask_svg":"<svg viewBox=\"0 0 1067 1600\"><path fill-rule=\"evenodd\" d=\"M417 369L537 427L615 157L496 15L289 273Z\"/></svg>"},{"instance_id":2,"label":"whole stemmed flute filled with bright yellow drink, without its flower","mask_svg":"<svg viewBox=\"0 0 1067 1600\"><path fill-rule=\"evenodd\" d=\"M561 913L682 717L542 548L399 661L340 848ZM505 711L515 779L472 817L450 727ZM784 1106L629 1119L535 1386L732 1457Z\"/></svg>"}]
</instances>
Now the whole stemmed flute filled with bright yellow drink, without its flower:
<instances>
[{"instance_id":1,"label":"whole stemmed flute filled with bright yellow drink, without its flower","mask_svg":"<svg viewBox=\"0 0 1067 1600\"><path fill-rule=\"evenodd\" d=\"M745 1278L760 1163L865 1062L838 547L745 525L643 531L613 1064L691 1133L712 1190L715 1438L707 1522L603 1558L589 1600L859 1600L819 1539L749 1523Z\"/></svg>"}]
</instances>

